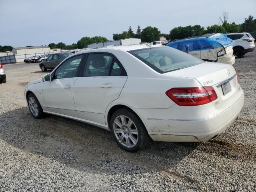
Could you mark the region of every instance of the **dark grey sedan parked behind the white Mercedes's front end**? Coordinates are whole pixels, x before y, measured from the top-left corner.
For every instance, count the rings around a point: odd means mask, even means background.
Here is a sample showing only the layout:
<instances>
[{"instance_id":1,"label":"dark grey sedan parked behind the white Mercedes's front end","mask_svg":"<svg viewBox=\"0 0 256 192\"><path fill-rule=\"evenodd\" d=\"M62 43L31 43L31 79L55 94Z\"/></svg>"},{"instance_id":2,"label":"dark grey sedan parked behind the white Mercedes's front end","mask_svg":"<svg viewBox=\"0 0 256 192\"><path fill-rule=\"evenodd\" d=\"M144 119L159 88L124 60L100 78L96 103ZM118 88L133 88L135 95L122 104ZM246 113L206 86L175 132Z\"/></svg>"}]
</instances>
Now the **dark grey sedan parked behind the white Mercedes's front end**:
<instances>
[{"instance_id":1,"label":"dark grey sedan parked behind the white Mercedes's front end","mask_svg":"<svg viewBox=\"0 0 256 192\"><path fill-rule=\"evenodd\" d=\"M41 61L39 63L39 67L42 71L47 71L48 69L54 69L62 60L66 57L72 55L70 52L62 52L62 53L55 53L49 55L46 60Z\"/></svg>"}]
</instances>

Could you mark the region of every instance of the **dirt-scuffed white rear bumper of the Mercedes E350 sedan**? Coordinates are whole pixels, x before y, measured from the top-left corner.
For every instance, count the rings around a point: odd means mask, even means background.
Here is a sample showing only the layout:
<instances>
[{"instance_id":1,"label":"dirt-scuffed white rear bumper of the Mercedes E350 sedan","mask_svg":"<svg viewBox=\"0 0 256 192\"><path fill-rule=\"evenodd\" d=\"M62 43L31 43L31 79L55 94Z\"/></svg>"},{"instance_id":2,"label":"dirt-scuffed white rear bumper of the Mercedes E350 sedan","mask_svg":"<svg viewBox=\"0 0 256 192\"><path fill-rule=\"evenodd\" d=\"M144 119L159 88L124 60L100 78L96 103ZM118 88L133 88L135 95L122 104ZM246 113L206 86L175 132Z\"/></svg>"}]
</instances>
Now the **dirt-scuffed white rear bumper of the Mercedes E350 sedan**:
<instances>
[{"instance_id":1,"label":"dirt-scuffed white rear bumper of the Mercedes E350 sedan","mask_svg":"<svg viewBox=\"0 0 256 192\"><path fill-rule=\"evenodd\" d=\"M148 130L148 134L155 141L166 142L200 142L208 141L223 132L235 120L244 105L244 92L232 102L230 106L212 116L199 119L160 119L142 118ZM170 110L175 110L170 108ZM169 110L169 111L170 111ZM203 113L208 113L202 109ZM160 111L159 111L160 112ZM162 114L166 114L164 111ZM184 111L191 114L192 111ZM176 112L180 113L180 112ZM194 111L194 114L197 114ZM210 110L209 110L210 113ZM182 113L180 113L182 114ZM150 116L150 114L148 114ZM157 114L154 114L157 116ZM181 116L182 117L182 116Z\"/></svg>"}]
</instances>

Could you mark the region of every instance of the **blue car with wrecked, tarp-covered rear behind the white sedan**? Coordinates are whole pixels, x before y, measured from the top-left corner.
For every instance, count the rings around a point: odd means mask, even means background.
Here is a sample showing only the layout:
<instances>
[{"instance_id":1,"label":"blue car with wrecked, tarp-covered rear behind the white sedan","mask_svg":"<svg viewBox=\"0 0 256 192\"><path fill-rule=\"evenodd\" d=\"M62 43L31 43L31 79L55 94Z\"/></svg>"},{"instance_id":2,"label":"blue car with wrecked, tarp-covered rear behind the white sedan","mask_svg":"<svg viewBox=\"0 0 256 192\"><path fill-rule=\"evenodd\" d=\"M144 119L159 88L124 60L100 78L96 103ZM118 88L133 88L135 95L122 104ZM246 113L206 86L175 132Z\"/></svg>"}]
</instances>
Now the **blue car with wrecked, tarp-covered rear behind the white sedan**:
<instances>
[{"instance_id":1,"label":"blue car with wrecked, tarp-covered rear behind the white sedan","mask_svg":"<svg viewBox=\"0 0 256 192\"><path fill-rule=\"evenodd\" d=\"M226 64L234 64L233 56L234 41L227 38L223 34L206 34L204 36L196 36L175 40L166 44L172 48L186 51L189 46L189 54L200 58L204 61L219 62Z\"/></svg>"}]
</instances>

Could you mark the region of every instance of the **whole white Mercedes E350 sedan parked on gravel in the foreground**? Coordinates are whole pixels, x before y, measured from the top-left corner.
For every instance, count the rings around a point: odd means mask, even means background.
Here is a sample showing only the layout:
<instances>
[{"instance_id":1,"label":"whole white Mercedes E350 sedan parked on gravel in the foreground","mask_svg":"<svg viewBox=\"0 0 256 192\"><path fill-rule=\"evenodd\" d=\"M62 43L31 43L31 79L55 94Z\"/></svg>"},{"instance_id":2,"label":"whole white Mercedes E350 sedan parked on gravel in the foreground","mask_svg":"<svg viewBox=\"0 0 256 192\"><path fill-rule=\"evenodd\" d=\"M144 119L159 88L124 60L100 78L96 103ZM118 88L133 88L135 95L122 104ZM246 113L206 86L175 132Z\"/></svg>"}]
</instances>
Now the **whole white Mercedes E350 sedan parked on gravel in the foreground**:
<instances>
[{"instance_id":1,"label":"whole white Mercedes E350 sedan parked on gravel in the foreground","mask_svg":"<svg viewBox=\"0 0 256 192\"><path fill-rule=\"evenodd\" d=\"M111 131L133 152L156 141L215 138L238 116L244 92L230 64L205 62L168 46L86 50L26 85L30 113Z\"/></svg>"}]
</instances>

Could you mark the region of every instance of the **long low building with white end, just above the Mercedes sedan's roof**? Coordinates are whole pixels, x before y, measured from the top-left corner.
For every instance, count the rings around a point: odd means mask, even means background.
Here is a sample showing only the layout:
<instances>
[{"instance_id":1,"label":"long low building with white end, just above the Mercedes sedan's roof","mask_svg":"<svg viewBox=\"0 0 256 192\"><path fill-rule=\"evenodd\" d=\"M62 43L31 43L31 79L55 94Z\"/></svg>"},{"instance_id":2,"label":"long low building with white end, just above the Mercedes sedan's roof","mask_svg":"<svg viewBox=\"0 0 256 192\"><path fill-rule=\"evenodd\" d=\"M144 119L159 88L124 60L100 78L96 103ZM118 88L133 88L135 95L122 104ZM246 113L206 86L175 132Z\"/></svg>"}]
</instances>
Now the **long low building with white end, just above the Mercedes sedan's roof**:
<instances>
[{"instance_id":1,"label":"long low building with white end, just above the Mercedes sedan's roof","mask_svg":"<svg viewBox=\"0 0 256 192\"><path fill-rule=\"evenodd\" d=\"M137 45L140 44L141 40L137 38L127 38L127 39L120 39L108 42L101 42L101 43L93 43L89 44L88 48L98 48L98 47L106 47L106 46L118 46L118 45Z\"/></svg>"}]
</instances>

